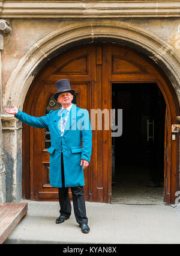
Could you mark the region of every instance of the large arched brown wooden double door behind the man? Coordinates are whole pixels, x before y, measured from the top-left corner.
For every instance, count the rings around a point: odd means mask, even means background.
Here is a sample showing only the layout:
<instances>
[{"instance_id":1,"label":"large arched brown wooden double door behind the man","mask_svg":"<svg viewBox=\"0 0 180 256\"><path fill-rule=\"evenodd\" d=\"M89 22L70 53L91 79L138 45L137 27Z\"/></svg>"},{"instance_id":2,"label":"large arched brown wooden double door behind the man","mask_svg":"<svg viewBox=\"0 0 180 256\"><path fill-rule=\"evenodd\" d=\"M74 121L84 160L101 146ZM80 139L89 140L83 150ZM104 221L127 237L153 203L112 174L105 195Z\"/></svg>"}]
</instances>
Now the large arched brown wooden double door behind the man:
<instances>
[{"instance_id":1,"label":"large arched brown wooden double door behind the man","mask_svg":"<svg viewBox=\"0 0 180 256\"><path fill-rule=\"evenodd\" d=\"M76 47L50 60L29 88L23 110L32 116L43 116L50 107L58 107L53 102L52 95L56 92L55 82L62 78L70 80L71 88L76 90L75 103L78 107L87 108L90 116L92 109L109 110L110 114L112 83L156 83L166 101L170 125L176 122L176 116L180 115L177 110L178 101L173 96L175 93L157 68L138 52L109 43ZM97 117L96 121L98 118L100 117ZM102 121L104 122L104 115ZM31 195L30 198L34 200L57 200L57 189L50 187L48 180L48 131L23 126L25 171L22 178L25 198ZM170 137L169 145L170 175L167 184L174 193L177 190L175 179L179 177L176 155L178 153L171 155L171 151L175 152L177 146L171 147ZM170 169L172 158L173 168ZM112 131L104 129L104 126L103 130L98 130L96 123L95 130L92 131L91 163L88 169L84 170L86 201L111 202L111 168ZM173 196L169 200L173 200Z\"/></svg>"}]
</instances>

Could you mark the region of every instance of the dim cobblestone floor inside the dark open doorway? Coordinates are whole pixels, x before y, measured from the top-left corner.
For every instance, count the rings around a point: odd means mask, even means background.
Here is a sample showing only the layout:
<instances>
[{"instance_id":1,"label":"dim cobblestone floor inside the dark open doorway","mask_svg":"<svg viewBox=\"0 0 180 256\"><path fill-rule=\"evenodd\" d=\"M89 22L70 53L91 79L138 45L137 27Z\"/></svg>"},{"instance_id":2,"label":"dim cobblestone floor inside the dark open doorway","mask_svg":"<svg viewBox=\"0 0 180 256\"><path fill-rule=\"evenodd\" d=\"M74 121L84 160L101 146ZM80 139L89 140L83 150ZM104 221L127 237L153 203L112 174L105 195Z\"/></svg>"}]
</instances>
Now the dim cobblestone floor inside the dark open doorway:
<instances>
[{"instance_id":1,"label":"dim cobblestone floor inside the dark open doorway","mask_svg":"<svg viewBox=\"0 0 180 256\"><path fill-rule=\"evenodd\" d=\"M142 166L116 169L112 204L163 205L163 187L148 187L149 185L153 185L149 180L149 171Z\"/></svg>"}]
</instances>

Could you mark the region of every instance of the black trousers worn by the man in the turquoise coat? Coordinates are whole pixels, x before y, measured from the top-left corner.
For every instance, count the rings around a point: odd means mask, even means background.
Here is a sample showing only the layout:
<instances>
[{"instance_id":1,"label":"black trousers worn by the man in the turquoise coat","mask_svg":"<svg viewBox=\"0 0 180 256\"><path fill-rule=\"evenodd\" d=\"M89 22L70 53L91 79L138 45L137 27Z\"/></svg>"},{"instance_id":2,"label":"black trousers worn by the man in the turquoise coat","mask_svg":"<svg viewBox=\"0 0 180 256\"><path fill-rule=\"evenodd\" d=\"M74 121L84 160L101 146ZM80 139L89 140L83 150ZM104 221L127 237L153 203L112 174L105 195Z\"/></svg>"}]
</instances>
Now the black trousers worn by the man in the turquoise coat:
<instances>
[{"instance_id":1,"label":"black trousers worn by the man in the turquoise coat","mask_svg":"<svg viewBox=\"0 0 180 256\"><path fill-rule=\"evenodd\" d=\"M59 204L61 216L69 217L71 215L71 202L68 193L68 187L64 186L64 163L63 154L61 153L61 170L62 170L62 187L58 187ZM83 186L71 187L73 196L73 208L76 221L79 224L88 223L86 217L86 206Z\"/></svg>"}]
</instances>

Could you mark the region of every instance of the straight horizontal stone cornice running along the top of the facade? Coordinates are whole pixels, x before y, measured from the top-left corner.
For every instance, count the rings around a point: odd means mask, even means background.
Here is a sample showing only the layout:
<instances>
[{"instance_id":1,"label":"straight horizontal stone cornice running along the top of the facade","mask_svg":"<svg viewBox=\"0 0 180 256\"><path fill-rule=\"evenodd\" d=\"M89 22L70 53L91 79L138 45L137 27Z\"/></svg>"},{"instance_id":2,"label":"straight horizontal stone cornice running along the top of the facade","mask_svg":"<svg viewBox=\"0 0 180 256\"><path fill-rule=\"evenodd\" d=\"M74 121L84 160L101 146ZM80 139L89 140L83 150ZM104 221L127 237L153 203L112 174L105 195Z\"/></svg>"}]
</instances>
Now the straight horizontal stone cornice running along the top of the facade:
<instances>
[{"instance_id":1,"label":"straight horizontal stone cornice running along the top of the facade","mask_svg":"<svg viewBox=\"0 0 180 256\"><path fill-rule=\"evenodd\" d=\"M0 1L1 18L180 17L179 1Z\"/></svg>"}]
</instances>

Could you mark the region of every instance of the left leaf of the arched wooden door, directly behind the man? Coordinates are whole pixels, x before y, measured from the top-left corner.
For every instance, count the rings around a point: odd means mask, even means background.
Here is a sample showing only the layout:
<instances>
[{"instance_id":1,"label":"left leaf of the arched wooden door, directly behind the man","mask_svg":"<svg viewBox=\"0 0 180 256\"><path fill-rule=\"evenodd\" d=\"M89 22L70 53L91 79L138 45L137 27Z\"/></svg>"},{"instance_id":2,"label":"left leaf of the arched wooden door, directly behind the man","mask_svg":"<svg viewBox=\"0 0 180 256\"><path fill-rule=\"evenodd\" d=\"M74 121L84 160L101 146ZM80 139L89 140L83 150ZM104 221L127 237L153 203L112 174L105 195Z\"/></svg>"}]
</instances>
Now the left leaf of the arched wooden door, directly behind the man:
<instances>
[{"instance_id":1,"label":"left leaf of the arched wooden door, directly behind the man","mask_svg":"<svg viewBox=\"0 0 180 256\"><path fill-rule=\"evenodd\" d=\"M95 83L95 56L95 48L86 47L62 54L60 58L50 61L48 66L44 67L44 72L34 82L31 92L29 90L28 102L31 101L32 104L24 107L26 113L32 116L43 116L50 110L60 108L61 106L55 101L53 95L56 93L55 82L62 78L70 80L71 89L76 91L73 103L80 108L88 109L90 113L91 108L96 108L96 96L93 95L93 100L91 100L92 90L95 91L97 86ZM25 124L23 126L23 131L26 134L28 134L29 129L31 137L29 142L30 198L32 200L56 201L58 199L58 189L51 187L49 184L49 153L46 152L47 148L50 147L49 130L29 128ZM95 144L94 136L94 148ZM27 148L25 148L25 153L28 155L28 150L26 150ZM92 169L93 164L95 165L97 161L96 157L97 154L92 154L91 164L84 170L86 184L84 189L87 201L94 200L92 199ZM27 158L25 164L26 161Z\"/></svg>"}]
</instances>

